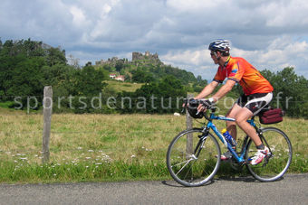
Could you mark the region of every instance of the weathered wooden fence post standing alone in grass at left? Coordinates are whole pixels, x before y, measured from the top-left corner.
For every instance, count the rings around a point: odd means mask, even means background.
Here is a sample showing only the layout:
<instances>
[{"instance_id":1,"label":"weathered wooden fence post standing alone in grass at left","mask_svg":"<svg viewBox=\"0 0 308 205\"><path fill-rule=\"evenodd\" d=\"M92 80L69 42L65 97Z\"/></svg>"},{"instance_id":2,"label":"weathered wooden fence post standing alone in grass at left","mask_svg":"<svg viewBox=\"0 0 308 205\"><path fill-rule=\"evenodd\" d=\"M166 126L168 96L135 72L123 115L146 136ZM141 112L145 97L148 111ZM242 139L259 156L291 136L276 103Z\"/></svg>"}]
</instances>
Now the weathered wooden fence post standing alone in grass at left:
<instances>
[{"instance_id":1,"label":"weathered wooden fence post standing alone in grass at left","mask_svg":"<svg viewBox=\"0 0 308 205\"><path fill-rule=\"evenodd\" d=\"M49 139L52 126L53 113L53 88L43 88L43 160L42 163L49 163Z\"/></svg>"}]
</instances>

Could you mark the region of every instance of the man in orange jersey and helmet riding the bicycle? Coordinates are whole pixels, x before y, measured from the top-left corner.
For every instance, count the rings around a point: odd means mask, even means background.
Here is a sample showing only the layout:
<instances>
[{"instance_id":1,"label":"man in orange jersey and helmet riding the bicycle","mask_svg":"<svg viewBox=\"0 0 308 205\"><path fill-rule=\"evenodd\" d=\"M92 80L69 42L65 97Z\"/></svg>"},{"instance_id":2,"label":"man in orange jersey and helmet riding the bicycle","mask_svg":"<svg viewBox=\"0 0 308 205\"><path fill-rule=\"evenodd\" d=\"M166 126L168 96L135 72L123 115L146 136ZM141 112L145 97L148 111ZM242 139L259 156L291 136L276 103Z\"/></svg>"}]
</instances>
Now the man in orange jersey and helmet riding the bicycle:
<instances>
[{"instance_id":1,"label":"man in orange jersey and helmet riding the bicycle","mask_svg":"<svg viewBox=\"0 0 308 205\"><path fill-rule=\"evenodd\" d=\"M272 91L274 90L271 84L265 79L258 70L255 69L249 62L240 57L230 56L230 41L218 39L211 42L208 46L210 55L215 64L218 64L217 73L211 83L209 83L196 97L196 99L206 98L210 95L219 83L225 79L226 83L218 89L212 98L205 100L207 106L217 102L229 92L236 83L239 83L244 91L244 94L237 99L236 103L226 114L227 117L235 118L235 122L226 122L226 129L236 139L236 125L239 126L246 135L255 143L257 152L251 163L261 163L265 155L269 153L268 148L262 143L259 136L255 132L255 128L246 120L255 116L260 112L273 98ZM204 105L197 107L199 112L205 111ZM234 147L236 148L236 147ZM227 160L232 157L230 151L221 155L222 160Z\"/></svg>"}]
</instances>

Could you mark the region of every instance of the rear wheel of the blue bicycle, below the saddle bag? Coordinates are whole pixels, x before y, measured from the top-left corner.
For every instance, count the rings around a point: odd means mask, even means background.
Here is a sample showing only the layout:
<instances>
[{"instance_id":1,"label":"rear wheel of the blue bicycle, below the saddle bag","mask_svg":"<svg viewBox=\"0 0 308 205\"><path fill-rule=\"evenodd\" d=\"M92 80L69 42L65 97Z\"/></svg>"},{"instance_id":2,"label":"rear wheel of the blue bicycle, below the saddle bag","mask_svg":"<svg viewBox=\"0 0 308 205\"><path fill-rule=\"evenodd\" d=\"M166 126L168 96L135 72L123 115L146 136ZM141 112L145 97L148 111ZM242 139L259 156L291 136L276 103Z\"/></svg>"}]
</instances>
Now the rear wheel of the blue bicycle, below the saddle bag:
<instances>
[{"instance_id":1,"label":"rear wheel of the blue bicycle, below the saddle bag","mask_svg":"<svg viewBox=\"0 0 308 205\"><path fill-rule=\"evenodd\" d=\"M287 135L275 127L261 128L264 144L270 148L262 163L252 165L250 159L256 152L255 144L250 139L247 144L245 159L248 171L261 182L274 182L284 176L292 163L292 144Z\"/></svg>"}]
</instances>

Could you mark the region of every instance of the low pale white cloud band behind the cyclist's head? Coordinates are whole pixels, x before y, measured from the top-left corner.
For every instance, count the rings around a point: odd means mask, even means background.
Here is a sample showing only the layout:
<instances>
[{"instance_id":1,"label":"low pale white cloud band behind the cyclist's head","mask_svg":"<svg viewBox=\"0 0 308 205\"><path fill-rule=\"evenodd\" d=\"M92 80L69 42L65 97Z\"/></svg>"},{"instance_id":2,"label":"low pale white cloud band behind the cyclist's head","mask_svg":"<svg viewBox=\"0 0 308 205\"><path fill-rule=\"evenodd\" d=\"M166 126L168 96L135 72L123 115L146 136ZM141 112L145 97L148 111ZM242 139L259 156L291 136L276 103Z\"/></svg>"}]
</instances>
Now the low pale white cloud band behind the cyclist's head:
<instances>
[{"instance_id":1,"label":"low pale white cloud band behind the cyclist's head","mask_svg":"<svg viewBox=\"0 0 308 205\"><path fill-rule=\"evenodd\" d=\"M308 62L308 42L306 41L297 42L290 37L283 36L275 39L263 50L255 51L246 51L237 48L236 44L233 45L231 55L245 58L258 70L277 71L290 66L295 67L300 75L307 77L305 64ZM201 75L205 79L212 79L217 71L217 65L211 60L209 51L204 48L170 51L161 56L161 59L180 68L188 67L190 70L195 70L196 75Z\"/></svg>"}]
</instances>

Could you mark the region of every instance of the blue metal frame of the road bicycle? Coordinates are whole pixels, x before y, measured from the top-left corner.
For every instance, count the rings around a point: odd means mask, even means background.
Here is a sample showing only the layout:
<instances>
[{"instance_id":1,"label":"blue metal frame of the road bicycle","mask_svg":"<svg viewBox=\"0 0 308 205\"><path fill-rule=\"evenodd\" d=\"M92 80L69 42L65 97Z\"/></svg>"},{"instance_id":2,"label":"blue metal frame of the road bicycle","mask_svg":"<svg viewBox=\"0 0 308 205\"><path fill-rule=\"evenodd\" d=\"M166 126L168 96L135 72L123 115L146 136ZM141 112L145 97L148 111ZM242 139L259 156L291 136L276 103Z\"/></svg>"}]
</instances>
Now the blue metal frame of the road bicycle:
<instances>
[{"instance_id":1,"label":"blue metal frame of the road bicycle","mask_svg":"<svg viewBox=\"0 0 308 205\"><path fill-rule=\"evenodd\" d=\"M219 139L221 140L221 142L223 144L226 145L226 148L231 152L231 154L235 157L236 161L238 163L244 163L245 159L244 159L244 155L245 155L245 149L246 147L243 147L242 152L240 155L236 154L236 151L232 148L232 145L226 141L225 137L218 131L217 126L214 125L214 123L212 122L213 119L215 120L224 120L224 121L236 121L236 119L234 118L229 118L226 116L215 116L214 113L211 113L208 122L207 122L207 130L212 129L214 131L214 133L219 137ZM247 120L247 122L251 125L255 127L255 122L254 122L254 118Z\"/></svg>"}]
</instances>

